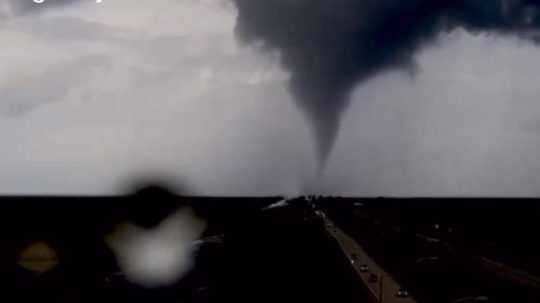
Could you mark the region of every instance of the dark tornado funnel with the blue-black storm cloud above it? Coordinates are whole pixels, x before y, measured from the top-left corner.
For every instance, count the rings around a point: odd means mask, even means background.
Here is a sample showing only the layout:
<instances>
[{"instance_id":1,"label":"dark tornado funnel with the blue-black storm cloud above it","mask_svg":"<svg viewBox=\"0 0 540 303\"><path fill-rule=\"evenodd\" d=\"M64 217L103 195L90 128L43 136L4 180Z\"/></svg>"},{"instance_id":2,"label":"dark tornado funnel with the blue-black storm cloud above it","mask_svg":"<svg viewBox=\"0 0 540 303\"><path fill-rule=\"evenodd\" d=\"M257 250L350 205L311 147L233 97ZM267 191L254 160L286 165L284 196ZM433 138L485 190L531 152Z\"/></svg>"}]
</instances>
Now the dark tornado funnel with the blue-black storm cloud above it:
<instances>
[{"instance_id":1,"label":"dark tornado funnel with the blue-black storm cloud above it","mask_svg":"<svg viewBox=\"0 0 540 303\"><path fill-rule=\"evenodd\" d=\"M536 40L538 0L233 0L242 41L281 51L290 88L328 156L352 88L387 69L414 71L414 55L440 32ZM488 50L486 50L488 51Z\"/></svg>"}]
</instances>

